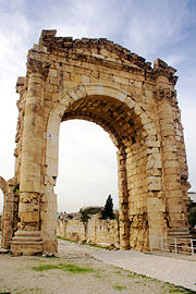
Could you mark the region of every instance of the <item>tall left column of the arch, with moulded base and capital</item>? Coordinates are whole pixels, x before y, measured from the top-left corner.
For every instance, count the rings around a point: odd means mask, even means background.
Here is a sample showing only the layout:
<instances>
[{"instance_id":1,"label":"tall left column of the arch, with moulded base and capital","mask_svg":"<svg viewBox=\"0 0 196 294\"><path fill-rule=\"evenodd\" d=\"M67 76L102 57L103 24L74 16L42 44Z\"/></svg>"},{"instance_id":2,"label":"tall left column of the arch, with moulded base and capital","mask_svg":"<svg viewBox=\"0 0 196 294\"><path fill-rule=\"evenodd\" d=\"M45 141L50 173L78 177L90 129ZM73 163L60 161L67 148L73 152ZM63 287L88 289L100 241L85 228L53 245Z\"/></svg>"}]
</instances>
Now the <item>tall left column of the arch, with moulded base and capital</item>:
<instances>
[{"instance_id":1,"label":"tall left column of the arch, with moulded base and capital","mask_svg":"<svg viewBox=\"0 0 196 294\"><path fill-rule=\"evenodd\" d=\"M20 173L20 204L17 232L12 240L14 254L33 255L41 252L40 198L41 157L44 144L44 77L42 62L28 59L22 163Z\"/></svg>"}]
</instances>

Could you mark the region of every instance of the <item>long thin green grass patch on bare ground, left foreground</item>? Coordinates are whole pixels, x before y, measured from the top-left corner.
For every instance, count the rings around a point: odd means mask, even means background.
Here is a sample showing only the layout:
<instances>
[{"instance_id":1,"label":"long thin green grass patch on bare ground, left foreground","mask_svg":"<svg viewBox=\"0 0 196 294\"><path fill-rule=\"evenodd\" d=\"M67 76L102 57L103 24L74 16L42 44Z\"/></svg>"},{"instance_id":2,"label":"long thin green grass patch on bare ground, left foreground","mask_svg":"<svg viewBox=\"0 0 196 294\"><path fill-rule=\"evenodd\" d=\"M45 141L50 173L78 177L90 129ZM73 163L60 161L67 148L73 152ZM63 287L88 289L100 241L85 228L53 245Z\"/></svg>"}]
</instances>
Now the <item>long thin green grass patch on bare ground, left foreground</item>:
<instances>
[{"instance_id":1,"label":"long thin green grass patch on bare ground, left foreground","mask_svg":"<svg viewBox=\"0 0 196 294\"><path fill-rule=\"evenodd\" d=\"M32 268L35 271L45 271L45 270L63 270L63 271L69 271L71 273L87 273L87 272L95 272L96 270L93 268L88 267L78 267L76 265L71 265L71 264L59 264L59 265L40 265L38 267L33 267Z\"/></svg>"}]
</instances>

